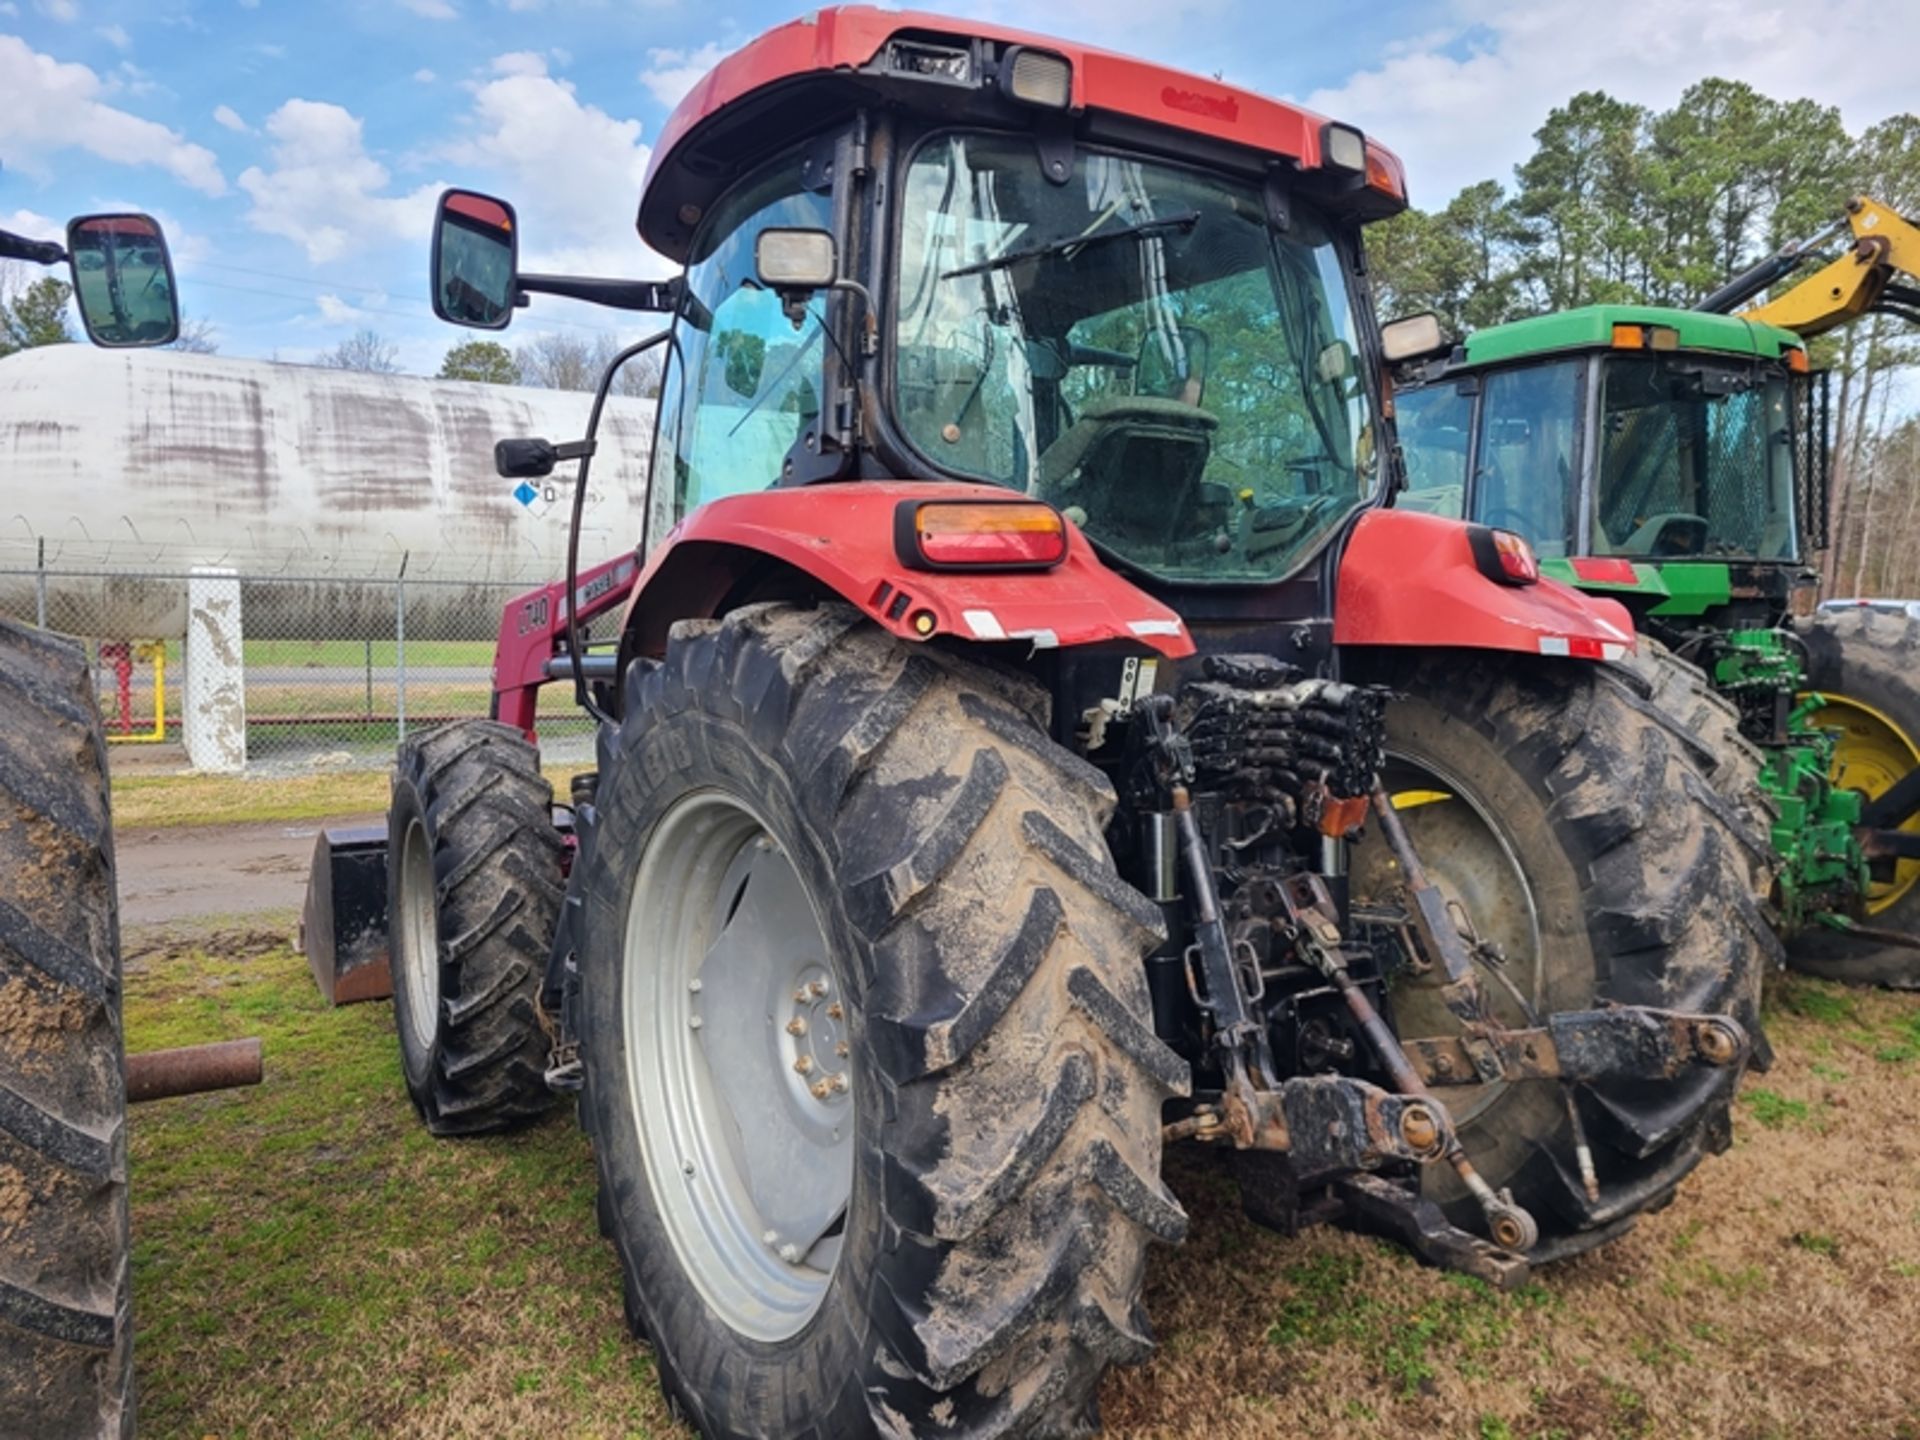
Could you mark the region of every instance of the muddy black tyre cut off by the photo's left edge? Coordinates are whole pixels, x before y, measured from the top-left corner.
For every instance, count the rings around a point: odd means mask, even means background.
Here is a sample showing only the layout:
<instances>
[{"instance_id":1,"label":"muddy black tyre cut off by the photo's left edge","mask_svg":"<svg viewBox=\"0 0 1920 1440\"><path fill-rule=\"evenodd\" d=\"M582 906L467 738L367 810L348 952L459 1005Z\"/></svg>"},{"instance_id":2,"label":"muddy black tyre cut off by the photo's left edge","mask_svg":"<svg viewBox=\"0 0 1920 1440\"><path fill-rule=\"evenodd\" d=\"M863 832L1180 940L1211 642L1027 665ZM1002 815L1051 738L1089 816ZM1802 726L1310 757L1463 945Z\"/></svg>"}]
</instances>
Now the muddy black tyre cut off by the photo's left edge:
<instances>
[{"instance_id":1,"label":"muddy black tyre cut off by the photo's left edge","mask_svg":"<svg viewBox=\"0 0 1920 1440\"><path fill-rule=\"evenodd\" d=\"M86 657L0 622L0 1436L132 1434L127 1081Z\"/></svg>"}]
</instances>

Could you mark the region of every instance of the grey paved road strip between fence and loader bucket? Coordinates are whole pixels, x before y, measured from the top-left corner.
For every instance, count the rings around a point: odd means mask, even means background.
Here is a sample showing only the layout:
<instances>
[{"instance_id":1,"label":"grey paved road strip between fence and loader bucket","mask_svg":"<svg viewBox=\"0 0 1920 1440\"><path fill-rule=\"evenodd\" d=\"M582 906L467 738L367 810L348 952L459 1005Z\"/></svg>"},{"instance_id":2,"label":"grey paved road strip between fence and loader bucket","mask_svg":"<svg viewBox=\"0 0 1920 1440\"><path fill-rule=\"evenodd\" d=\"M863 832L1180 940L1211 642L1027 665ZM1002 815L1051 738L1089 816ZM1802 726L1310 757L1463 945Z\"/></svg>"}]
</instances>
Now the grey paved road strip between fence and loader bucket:
<instances>
[{"instance_id":1,"label":"grey paved road strip between fence and loader bucket","mask_svg":"<svg viewBox=\"0 0 1920 1440\"><path fill-rule=\"evenodd\" d=\"M326 824L380 824L382 816L346 816ZM250 916L298 910L319 820L255 826L169 826L121 829L121 924L154 925L204 916Z\"/></svg>"}]
</instances>

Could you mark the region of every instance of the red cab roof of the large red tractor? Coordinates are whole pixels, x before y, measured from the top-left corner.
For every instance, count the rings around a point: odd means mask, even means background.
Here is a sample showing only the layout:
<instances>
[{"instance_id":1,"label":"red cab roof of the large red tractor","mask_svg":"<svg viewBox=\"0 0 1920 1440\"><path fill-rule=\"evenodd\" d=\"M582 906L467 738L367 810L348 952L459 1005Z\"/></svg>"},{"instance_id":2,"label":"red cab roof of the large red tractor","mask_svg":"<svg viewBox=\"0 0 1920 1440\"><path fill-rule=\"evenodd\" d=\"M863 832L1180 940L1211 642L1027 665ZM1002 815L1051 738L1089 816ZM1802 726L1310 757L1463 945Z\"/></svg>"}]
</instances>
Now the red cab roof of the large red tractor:
<instances>
[{"instance_id":1,"label":"red cab roof of the large red tractor","mask_svg":"<svg viewBox=\"0 0 1920 1440\"><path fill-rule=\"evenodd\" d=\"M705 207L747 167L778 148L803 140L851 115L885 102L912 104L929 113L970 113L964 86L950 81L908 79L887 69L889 42L985 46L1004 56L1031 46L1071 65L1069 115L1129 123L1127 132L1150 144L1152 134L1190 136L1242 159L1265 157L1290 169L1321 167L1325 119L1309 109L1242 90L1221 81L1167 69L1071 40L914 10L835 6L780 25L714 65L674 108L647 165L639 202L639 234L672 259L685 259ZM1010 104L993 94L991 75L972 84L973 109ZM1023 111L1027 117L1048 111ZM1152 127L1142 132L1144 127ZM1367 140L1367 179L1356 209L1384 217L1405 209L1405 169L1400 157Z\"/></svg>"}]
</instances>

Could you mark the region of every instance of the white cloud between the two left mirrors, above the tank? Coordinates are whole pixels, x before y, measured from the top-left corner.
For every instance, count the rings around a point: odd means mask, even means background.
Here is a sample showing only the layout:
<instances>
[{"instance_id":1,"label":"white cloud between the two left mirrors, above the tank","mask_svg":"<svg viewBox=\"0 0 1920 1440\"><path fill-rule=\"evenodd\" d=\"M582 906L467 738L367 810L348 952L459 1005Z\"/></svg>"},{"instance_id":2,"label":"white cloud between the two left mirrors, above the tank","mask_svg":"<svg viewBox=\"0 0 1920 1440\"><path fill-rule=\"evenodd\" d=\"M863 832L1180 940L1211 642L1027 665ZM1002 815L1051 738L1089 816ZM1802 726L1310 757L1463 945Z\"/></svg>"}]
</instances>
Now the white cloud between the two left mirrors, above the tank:
<instances>
[{"instance_id":1,"label":"white cloud between the two left mirrors, above the tank","mask_svg":"<svg viewBox=\"0 0 1920 1440\"><path fill-rule=\"evenodd\" d=\"M255 230L294 240L315 265L397 238L424 248L442 186L382 194L392 177L367 154L357 115L319 100L288 100L267 117L267 134L273 167L240 173Z\"/></svg>"}]
</instances>

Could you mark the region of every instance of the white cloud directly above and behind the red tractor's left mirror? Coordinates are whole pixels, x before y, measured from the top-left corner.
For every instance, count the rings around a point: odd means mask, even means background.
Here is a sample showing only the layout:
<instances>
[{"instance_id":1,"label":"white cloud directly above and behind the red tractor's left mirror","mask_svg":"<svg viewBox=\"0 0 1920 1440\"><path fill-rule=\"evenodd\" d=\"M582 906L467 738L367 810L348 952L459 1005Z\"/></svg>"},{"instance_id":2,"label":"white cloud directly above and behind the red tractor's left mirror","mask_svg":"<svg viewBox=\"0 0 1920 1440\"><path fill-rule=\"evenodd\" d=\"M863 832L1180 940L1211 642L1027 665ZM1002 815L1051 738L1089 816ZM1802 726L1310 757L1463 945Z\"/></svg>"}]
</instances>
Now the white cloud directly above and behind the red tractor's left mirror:
<instances>
[{"instance_id":1,"label":"white cloud directly above and behind the red tractor's left mirror","mask_svg":"<svg viewBox=\"0 0 1920 1440\"><path fill-rule=\"evenodd\" d=\"M580 100L532 54L493 61L474 83L468 131L440 156L497 177L520 211L528 269L657 269L634 238L649 148L637 119Z\"/></svg>"}]
</instances>

